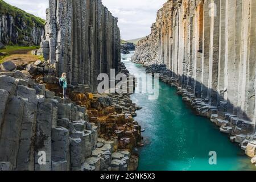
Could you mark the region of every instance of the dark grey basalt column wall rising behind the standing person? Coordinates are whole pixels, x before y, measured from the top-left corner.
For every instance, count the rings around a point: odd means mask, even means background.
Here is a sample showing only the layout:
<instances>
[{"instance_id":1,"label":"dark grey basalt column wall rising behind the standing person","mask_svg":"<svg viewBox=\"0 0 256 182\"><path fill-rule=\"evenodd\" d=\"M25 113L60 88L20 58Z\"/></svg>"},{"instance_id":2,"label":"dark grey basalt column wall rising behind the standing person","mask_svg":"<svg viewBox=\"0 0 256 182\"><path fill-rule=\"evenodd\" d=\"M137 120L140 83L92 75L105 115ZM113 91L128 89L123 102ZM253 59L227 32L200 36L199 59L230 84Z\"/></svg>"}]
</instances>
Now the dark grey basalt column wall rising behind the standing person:
<instances>
[{"instance_id":1,"label":"dark grey basalt column wall rising behind the standing person","mask_svg":"<svg viewBox=\"0 0 256 182\"><path fill-rule=\"evenodd\" d=\"M97 87L97 76L118 70L120 31L117 18L101 0L49 0L46 35L39 54L67 72L72 85Z\"/></svg>"}]
</instances>

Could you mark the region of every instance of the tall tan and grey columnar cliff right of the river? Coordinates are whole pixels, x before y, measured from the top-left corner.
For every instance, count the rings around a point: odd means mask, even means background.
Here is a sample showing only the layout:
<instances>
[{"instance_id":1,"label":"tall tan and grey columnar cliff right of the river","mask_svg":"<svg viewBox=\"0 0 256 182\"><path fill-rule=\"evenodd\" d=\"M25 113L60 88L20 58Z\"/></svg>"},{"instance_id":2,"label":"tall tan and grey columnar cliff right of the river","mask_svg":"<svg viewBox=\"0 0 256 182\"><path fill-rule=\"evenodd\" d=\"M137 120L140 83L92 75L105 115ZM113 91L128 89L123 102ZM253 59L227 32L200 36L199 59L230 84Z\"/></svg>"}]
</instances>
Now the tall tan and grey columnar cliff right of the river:
<instances>
[{"instance_id":1,"label":"tall tan and grey columnar cliff right of the river","mask_svg":"<svg viewBox=\"0 0 256 182\"><path fill-rule=\"evenodd\" d=\"M256 2L169 0L152 32L138 43L135 63L164 65L166 75L216 112L253 133ZM184 91L185 92L185 91ZM202 106L199 106L202 108ZM239 120L241 119L241 120Z\"/></svg>"}]
</instances>

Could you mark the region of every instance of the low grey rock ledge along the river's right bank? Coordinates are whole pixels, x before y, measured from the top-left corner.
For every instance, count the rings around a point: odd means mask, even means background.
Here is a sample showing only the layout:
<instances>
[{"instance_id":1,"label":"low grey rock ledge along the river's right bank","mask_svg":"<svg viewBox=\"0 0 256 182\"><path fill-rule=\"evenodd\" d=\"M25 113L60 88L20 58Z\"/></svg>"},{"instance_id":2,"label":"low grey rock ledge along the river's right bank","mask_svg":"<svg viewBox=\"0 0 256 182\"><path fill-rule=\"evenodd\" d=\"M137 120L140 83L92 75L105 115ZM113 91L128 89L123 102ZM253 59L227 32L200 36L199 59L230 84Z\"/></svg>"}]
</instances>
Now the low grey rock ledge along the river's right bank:
<instances>
[{"instance_id":1,"label":"low grey rock ledge along the river's right bank","mask_svg":"<svg viewBox=\"0 0 256 182\"><path fill-rule=\"evenodd\" d=\"M239 119L237 115L227 112L226 102L221 102L218 107L212 106L208 99L199 99L191 93L191 87L183 88L177 78L171 76L170 70L164 64L146 67L147 73L158 73L161 81L177 88L177 94L183 97L196 114L207 117L220 128L222 133L228 134L230 141L238 143L245 154L249 156L252 164L256 164L255 149L256 135L253 134L251 122Z\"/></svg>"}]
</instances>

